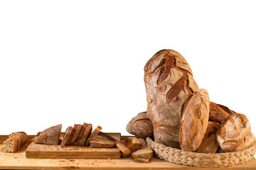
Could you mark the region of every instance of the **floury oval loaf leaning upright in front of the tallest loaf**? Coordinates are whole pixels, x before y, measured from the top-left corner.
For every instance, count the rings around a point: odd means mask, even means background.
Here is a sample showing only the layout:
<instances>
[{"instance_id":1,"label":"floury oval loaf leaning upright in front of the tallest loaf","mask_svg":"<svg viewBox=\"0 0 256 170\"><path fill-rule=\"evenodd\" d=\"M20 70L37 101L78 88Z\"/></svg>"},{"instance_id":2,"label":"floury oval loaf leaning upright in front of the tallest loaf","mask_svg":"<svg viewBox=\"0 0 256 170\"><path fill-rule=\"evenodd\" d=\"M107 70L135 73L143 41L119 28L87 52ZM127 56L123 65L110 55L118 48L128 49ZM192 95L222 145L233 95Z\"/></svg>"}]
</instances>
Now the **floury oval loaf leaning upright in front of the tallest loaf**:
<instances>
[{"instance_id":1,"label":"floury oval loaf leaning upright in front of the tallest loaf","mask_svg":"<svg viewBox=\"0 0 256 170\"><path fill-rule=\"evenodd\" d=\"M181 149L195 152L201 145L208 126L209 111L210 99L206 89L199 89L188 98L181 119Z\"/></svg>"}]
</instances>

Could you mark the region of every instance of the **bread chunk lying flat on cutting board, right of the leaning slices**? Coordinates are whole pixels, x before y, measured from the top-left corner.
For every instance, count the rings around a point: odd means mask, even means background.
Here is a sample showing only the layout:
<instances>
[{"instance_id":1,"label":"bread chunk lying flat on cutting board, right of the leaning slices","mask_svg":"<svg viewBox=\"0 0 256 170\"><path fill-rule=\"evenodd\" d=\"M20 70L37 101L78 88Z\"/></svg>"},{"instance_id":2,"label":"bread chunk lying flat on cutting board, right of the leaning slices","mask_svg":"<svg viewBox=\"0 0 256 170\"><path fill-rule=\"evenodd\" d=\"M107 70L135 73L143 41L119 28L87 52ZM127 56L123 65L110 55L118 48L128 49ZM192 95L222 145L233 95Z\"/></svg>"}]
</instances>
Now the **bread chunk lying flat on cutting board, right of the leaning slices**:
<instances>
[{"instance_id":1,"label":"bread chunk lying flat on cutting board, right of the leaning slices","mask_svg":"<svg viewBox=\"0 0 256 170\"><path fill-rule=\"evenodd\" d=\"M91 140L90 147L95 148L111 148L114 147L115 143L111 140L107 140L105 137L97 135L94 140Z\"/></svg>"}]
</instances>

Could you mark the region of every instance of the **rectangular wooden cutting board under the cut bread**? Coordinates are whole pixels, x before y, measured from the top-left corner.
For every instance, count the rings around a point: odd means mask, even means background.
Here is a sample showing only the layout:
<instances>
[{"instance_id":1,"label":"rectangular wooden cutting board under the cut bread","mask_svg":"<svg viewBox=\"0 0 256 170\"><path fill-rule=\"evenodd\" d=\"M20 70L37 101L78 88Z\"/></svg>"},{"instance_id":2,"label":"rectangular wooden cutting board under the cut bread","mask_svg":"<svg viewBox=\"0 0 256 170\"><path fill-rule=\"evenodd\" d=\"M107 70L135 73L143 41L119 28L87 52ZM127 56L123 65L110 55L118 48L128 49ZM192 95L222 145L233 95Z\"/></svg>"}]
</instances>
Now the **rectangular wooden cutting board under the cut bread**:
<instances>
[{"instance_id":1,"label":"rectangular wooden cutting board under the cut bread","mask_svg":"<svg viewBox=\"0 0 256 170\"><path fill-rule=\"evenodd\" d=\"M121 140L120 133L107 133ZM78 146L41 145L32 142L26 149L26 158L70 158L70 159L119 159L121 153L114 148L90 148Z\"/></svg>"}]
</instances>

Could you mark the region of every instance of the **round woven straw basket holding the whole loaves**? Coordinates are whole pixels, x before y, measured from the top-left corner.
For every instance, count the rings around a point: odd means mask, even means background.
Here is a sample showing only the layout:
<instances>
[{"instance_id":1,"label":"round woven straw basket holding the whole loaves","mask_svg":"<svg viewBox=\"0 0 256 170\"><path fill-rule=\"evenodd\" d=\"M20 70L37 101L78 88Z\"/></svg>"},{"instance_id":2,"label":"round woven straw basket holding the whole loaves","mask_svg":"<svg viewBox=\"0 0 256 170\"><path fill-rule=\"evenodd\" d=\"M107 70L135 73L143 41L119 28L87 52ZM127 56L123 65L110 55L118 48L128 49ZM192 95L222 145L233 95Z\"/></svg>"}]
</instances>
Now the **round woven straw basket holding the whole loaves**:
<instances>
[{"instance_id":1,"label":"round woven straw basket holding the whole loaves","mask_svg":"<svg viewBox=\"0 0 256 170\"><path fill-rule=\"evenodd\" d=\"M156 157L174 164L183 164L196 167L226 167L242 164L253 158L256 150L256 143L251 147L239 152L227 152L217 154L204 154L197 152L186 152L181 149L166 147L146 138L147 145L151 146Z\"/></svg>"}]
</instances>

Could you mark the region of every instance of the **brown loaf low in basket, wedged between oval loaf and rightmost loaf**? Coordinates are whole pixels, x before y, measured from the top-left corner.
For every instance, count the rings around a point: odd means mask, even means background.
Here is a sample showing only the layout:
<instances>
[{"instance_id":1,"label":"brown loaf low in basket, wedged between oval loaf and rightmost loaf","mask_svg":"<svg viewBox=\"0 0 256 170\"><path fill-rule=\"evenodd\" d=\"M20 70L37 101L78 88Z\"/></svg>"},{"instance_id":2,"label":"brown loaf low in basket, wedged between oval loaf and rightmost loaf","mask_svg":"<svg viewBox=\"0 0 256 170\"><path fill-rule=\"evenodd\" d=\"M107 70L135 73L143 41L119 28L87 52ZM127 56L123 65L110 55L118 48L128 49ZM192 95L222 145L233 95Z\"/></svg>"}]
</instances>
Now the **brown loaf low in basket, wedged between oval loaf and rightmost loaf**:
<instances>
[{"instance_id":1,"label":"brown loaf low in basket, wedged between oval loaf and rightmost loaf","mask_svg":"<svg viewBox=\"0 0 256 170\"><path fill-rule=\"evenodd\" d=\"M219 145L216 140L216 132L220 130L220 123L208 121L208 127L206 133L203 135L203 140L201 145L196 149L196 152L199 153L211 153L214 154L217 152Z\"/></svg>"}]
</instances>

